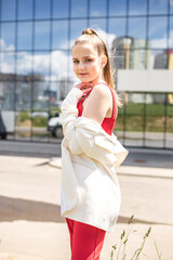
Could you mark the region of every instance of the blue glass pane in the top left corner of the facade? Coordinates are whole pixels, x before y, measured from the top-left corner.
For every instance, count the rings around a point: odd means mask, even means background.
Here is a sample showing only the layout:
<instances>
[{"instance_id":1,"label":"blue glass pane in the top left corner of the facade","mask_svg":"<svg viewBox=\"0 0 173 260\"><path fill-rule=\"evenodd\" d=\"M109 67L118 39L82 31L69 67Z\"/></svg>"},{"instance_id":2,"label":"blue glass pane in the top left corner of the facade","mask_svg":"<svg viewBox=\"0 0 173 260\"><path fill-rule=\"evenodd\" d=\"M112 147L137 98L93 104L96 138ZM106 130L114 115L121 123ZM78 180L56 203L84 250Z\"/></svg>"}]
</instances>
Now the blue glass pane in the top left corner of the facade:
<instances>
[{"instance_id":1,"label":"blue glass pane in the top left corner of the facade","mask_svg":"<svg viewBox=\"0 0 173 260\"><path fill-rule=\"evenodd\" d=\"M15 20L15 9L16 1L15 0L2 0L2 21L14 21Z\"/></svg>"}]
</instances>

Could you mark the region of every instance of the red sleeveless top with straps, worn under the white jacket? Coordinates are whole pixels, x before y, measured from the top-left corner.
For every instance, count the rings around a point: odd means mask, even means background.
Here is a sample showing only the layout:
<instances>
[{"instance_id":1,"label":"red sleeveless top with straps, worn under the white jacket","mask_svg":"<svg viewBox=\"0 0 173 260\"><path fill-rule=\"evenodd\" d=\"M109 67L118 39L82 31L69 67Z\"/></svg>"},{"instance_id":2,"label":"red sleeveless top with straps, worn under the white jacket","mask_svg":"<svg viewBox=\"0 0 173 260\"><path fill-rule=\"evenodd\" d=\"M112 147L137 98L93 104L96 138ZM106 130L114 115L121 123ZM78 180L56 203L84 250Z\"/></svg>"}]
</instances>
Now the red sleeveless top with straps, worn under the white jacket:
<instances>
[{"instance_id":1,"label":"red sleeveless top with straps, worn under the white jacket","mask_svg":"<svg viewBox=\"0 0 173 260\"><path fill-rule=\"evenodd\" d=\"M114 130L114 127L115 127L115 123L116 123L116 117L117 117L117 106L116 106L116 96L115 96L115 92L114 90L106 83L104 83L105 86L107 86L111 92L111 95L112 95L112 114L111 114L111 117L108 118L108 117L105 117L103 122L102 122L102 128L105 130L105 132L107 132L109 135L111 135L112 133L112 130ZM86 93L86 95L92 91L92 89ZM77 108L78 108L78 117L80 117L82 115L82 112L83 112L83 107L82 107L82 104L83 104L83 101L84 101L84 98L86 95L83 95L78 104L77 104Z\"/></svg>"}]
</instances>

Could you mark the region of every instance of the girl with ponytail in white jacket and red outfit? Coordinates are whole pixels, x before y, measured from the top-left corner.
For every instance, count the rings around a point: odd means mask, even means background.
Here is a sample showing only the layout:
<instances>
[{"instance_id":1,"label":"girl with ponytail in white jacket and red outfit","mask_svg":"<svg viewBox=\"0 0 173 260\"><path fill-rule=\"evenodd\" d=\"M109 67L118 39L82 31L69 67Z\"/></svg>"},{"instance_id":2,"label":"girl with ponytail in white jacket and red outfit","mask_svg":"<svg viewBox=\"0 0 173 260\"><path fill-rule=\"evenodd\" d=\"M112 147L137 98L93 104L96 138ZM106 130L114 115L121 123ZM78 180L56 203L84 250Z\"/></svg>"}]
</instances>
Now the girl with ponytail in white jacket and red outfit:
<instances>
[{"instance_id":1,"label":"girl with ponytail in white jacket and red outfit","mask_svg":"<svg viewBox=\"0 0 173 260\"><path fill-rule=\"evenodd\" d=\"M128 151L112 133L119 100L107 47L94 29L75 41L72 61L80 83L62 104L62 216L71 260L98 260L105 233L112 232L118 218L116 167Z\"/></svg>"}]
</instances>

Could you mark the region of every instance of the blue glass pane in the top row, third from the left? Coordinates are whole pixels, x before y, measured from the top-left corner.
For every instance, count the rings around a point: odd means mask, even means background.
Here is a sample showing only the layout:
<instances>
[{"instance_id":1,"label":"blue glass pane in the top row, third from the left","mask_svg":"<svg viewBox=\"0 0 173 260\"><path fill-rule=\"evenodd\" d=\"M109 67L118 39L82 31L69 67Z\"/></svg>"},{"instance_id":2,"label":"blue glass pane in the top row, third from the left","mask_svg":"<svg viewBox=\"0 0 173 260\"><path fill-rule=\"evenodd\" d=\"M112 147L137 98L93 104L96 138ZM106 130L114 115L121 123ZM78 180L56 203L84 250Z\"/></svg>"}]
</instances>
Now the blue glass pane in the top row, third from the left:
<instances>
[{"instance_id":1,"label":"blue glass pane in the top row, third from the left","mask_svg":"<svg viewBox=\"0 0 173 260\"><path fill-rule=\"evenodd\" d=\"M50 18L51 1L35 0L36 2L36 18Z\"/></svg>"}]
</instances>

